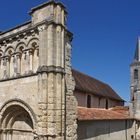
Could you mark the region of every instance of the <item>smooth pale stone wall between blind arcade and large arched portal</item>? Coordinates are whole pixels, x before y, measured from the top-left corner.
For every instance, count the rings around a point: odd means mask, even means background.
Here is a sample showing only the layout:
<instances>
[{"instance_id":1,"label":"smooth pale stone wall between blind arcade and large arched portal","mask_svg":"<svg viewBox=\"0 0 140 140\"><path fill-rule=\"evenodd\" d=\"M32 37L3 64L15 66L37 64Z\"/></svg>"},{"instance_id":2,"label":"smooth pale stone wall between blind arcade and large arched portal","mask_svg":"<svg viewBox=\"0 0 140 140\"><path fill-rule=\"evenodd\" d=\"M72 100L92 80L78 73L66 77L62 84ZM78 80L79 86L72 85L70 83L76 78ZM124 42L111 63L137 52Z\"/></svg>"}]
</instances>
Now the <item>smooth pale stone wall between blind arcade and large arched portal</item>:
<instances>
[{"instance_id":1,"label":"smooth pale stone wall between blind arcade and large arched portal","mask_svg":"<svg viewBox=\"0 0 140 140\"><path fill-rule=\"evenodd\" d=\"M0 83L0 108L9 100L19 99L28 104L38 113L38 77L24 77Z\"/></svg>"}]
</instances>

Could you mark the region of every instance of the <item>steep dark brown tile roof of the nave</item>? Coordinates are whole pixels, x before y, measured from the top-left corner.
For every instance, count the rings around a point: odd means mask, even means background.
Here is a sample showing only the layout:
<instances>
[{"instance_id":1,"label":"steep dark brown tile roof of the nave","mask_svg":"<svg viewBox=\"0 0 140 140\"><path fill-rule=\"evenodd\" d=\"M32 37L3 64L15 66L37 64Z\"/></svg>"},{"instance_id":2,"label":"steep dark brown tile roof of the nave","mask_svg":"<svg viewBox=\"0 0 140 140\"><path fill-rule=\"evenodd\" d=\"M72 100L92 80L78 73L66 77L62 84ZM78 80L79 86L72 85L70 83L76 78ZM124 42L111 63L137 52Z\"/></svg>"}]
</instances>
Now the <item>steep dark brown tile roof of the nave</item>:
<instances>
[{"instance_id":1,"label":"steep dark brown tile roof of the nave","mask_svg":"<svg viewBox=\"0 0 140 140\"><path fill-rule=\"evenodd\" d=\"M109 85L74 69L72 73L76 82L75 90L124 101Z\"/></svg>"}]
</instances>

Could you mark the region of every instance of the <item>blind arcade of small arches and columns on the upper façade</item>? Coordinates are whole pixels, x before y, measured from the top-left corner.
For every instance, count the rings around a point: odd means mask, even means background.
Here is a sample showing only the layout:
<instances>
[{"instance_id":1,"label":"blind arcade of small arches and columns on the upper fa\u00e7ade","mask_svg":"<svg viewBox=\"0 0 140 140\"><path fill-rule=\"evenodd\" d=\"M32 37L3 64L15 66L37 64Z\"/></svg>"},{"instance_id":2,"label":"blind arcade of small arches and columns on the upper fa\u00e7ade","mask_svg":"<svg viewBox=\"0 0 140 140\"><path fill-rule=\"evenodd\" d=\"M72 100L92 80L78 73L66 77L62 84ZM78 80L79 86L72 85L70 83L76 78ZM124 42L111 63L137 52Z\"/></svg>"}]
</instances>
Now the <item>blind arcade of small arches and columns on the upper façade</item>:
<instances>
[{"instance_id":1,"label":"blind arcade of small arches and columns on the upper fa\u00e7ade","mask_svg":"<svg viewBox=\"0 0 140 140\"><path fill-rule=\"evenodd\" d=\"M36 73L39 61L39 40L32 38L27 43L0 49L0 79Z\"/></svg>"}]
</instances>

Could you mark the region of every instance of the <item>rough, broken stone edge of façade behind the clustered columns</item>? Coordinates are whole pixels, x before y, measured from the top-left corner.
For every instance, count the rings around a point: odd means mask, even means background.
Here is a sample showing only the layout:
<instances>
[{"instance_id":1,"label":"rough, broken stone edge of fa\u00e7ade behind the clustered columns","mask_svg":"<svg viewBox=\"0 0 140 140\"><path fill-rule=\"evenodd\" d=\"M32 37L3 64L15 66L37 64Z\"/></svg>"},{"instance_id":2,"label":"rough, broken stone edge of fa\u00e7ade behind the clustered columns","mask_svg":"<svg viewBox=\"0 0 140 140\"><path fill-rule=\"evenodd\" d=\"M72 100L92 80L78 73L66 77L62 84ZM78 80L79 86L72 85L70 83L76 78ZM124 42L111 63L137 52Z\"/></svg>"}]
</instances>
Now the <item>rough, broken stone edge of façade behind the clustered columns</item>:
<instances>
[{"instance_id":1,"label":"rough, broken stone edge of fa\u00e7ade behind the clustered columns","mask_svg":"<svg viewBox=\"0 0 140 140\"><path fill-rule=\"evenodd\" d=\"M75 89L75 81L71 71L71 50L71 41L69 38L66 38L66 139L77 140L77 100L73 93Z\"/></svg>"}]
</instances>

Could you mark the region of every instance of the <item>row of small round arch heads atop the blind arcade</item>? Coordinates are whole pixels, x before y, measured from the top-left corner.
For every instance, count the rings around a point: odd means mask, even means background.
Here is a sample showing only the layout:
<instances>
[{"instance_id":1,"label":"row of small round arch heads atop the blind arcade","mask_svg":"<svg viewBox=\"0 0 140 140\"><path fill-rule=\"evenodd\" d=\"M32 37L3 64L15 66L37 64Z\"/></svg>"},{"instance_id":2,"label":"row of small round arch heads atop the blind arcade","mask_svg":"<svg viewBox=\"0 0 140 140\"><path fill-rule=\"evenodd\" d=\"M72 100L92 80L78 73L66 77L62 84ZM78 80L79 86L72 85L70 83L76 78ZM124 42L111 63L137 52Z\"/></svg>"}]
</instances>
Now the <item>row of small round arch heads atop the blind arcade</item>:
<instances>
[{"instance_id":1,"label":"row of small round arch heads atop the blind arcade","mask_svg":"<svg viewBox=\"0 0 140 140\"><path fill-rule=\"evenodd\" d=\"M25 42L18 43L15 48L8 46L4 52L0 50L0 56L8 56L16 52L22 53L26 49L35 50L39 46L38 42L38 38L33 38L27 44Z\"/></svg>"}]
</instances>

